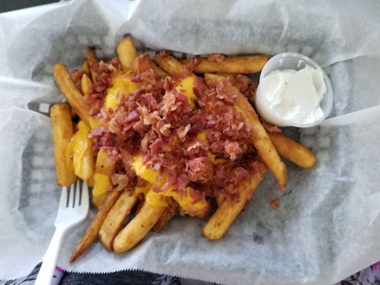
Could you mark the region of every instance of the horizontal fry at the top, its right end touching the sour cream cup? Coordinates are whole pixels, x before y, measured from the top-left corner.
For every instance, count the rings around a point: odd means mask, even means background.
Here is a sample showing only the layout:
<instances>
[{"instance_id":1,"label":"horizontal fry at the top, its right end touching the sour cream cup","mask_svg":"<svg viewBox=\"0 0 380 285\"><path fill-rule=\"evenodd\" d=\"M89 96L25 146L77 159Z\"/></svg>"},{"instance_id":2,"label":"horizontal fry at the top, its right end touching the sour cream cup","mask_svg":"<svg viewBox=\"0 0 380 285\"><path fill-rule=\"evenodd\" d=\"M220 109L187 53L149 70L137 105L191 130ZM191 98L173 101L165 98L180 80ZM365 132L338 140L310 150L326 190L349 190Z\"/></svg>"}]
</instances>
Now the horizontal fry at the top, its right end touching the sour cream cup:
<instances>
[{"instance_id":1,"label":"horizontal fry at the top, its right end touching the sour cream cup","mask_svg":"<svg viewBox=\"0 0 380 285\"><path fill-rule=\"evenodd\" d=\"M265 54L256 56L230 56L221 62L209 61L207 58L199 58L200 63L195 66L194 73L257 73L262 70L268 57ZM189 59L185 59L182 63L187 63Z\"/></svg>"}]
</instances>

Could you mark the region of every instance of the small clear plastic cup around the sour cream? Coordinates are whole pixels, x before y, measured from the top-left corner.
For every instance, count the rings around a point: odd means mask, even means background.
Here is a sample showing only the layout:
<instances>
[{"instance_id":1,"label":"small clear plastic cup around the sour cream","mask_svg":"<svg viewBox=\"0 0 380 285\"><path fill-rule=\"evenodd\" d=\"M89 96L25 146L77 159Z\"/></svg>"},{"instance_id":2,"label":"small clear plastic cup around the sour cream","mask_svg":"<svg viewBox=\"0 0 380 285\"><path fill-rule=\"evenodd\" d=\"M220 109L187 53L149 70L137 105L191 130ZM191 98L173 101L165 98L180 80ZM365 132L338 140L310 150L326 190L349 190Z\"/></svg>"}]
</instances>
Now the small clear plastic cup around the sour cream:
<instances>
[{"instance_id":1,"label":"small clear plastic cup around the sour cream","mask_svg":"<svg viewBox=\"0 0 380 285\"><path fill-rule=\"evenodd\" d=\"M296 71L299 71L302 68L305 68L305 66L319 69L323 73L324 83L326 84L326 93L324 93L324 98L321 101L321 108L324 116L313 123L304 124L289 122L283 118L279 118L279 115L277 115L277 113L275 113L274 110L269 107L270 103L265 98L265 95L263 94L264 91L260 88L259 83L255 95L256 110L257 113L259 113L260 116L268 123L279 125L281 127L293 126L298 128L309 128L321 123L331 113L332 105L334 103L334 90L332 89L332 83L327 74L324 72L323 68L319 66L318 63L313 61L312 58L308 58L307 56L304 56L300 53L279 53L277 56L270 58L269 61L265 63L265 66L262 68L260 74L260 82L262 82L262 79L265 78L265 76L277 69L294 69Z\"/></svg>"}]
</instances>

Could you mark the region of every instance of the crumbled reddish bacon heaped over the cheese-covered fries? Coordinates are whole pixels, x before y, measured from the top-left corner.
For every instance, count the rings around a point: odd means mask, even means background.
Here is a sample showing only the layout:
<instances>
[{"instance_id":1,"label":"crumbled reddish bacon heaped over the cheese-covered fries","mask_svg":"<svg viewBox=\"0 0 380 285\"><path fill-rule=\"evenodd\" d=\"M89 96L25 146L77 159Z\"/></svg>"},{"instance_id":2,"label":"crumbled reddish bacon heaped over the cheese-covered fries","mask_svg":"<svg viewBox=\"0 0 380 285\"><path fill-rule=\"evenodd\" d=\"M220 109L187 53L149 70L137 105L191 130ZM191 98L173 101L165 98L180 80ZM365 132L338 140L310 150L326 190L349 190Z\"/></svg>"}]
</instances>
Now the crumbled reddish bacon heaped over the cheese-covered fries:
<instances>
[{"instance_id":1,"label":"crumbled reddish bacon heaped over the cheese-covered fries","mask_svg":"<svg viewBox=\"0 0 380 285\"><path fill-rule=\"evenodd\" d=\"M220 56L217 56L220 59ZM196 200L205 194L223 193L238 200L237 185L261 170L250 141L250 126L233 108L235 94L231 83L195 78L195 107L170 78L156 78L153 70L133 75L141 84L135 93L120 96L114 110L103 106L106 88L120 68L118 61L92 66L98 73L91 95L86 98L97 107L91 115L107 126L91 133L94 150L112 152L116 162L113 187L120 190L138 180L130 169L133 156L140 154L145 167L158 171L155 192L174 187L180 195L185 189ZM245 78L240 78L247 85Z\"/></svg>"}]
</instances>

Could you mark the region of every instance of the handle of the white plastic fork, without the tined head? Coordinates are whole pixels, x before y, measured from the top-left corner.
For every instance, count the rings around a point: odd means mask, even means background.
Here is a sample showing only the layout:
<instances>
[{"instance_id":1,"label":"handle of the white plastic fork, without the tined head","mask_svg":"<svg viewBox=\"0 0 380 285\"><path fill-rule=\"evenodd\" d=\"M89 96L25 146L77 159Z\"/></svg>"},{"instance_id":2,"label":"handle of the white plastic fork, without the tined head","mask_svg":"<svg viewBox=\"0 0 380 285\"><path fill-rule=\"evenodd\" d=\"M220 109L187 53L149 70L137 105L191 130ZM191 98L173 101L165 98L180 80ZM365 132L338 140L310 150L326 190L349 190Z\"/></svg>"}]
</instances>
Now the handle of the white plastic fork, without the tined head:
<instances>
[{"instance_id":1,"label":"handle of the white plastic fork, without the tined head","mask_svg":"<svg viewBox=\"0 0 380 285\"><path fill-rule=\"evenodd\" d=\"M54 269L56 269L56 261L58 257L59 248L61 247L61 242L65 230L57 228L54 232L53 238L48 245L48 250L46 251L45 257L43 257L43 262L38 272L38 276L34 285L49 285L51 284L51 279L53 277Z\"/></svg>"}]
</instances>

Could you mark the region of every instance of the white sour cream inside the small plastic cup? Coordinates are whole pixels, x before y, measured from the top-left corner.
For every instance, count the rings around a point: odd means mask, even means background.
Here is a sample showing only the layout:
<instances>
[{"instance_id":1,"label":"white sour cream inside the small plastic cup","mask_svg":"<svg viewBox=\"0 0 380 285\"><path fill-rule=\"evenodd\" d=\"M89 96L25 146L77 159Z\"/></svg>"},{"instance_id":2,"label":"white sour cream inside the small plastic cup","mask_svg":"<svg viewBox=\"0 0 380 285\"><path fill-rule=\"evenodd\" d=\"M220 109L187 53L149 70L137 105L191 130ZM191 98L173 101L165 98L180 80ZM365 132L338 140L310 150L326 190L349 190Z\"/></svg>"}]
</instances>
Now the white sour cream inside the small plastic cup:
<instances>
[{"instance_id":1,"label":"white sour cream inside the small plastic cup","mask_svg":"<svg viewBox=\"0 0 380 285\"><path fill-rule=\"evenodd\" d=\"M320 103L326 85L320 69L275 70L262 79L260 88L272 112L290 124L314 123L324 116Z\"/></svg>"}]
</instances>

